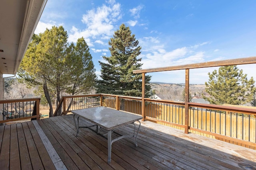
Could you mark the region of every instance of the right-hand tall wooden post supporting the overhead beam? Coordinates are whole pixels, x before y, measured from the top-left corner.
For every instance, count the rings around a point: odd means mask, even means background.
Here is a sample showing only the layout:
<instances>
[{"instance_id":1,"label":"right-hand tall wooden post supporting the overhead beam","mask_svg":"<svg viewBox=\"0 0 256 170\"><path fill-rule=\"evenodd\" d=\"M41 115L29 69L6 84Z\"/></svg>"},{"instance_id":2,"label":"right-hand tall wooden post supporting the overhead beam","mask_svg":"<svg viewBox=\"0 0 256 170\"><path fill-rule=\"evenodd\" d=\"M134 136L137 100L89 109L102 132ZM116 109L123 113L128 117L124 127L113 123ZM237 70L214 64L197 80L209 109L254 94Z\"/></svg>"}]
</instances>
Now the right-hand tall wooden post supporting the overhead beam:
<instances>
[{"instance_id":1,"label":"right-hand tall wooden post supporting the overhead beam","mask_svg":"<svg viewBox=\"0 0 256 170\"><path fill-rule=\"evenodd\" d=\"M185 72L185 133L188 134L189 69Z\"/></svg>"}]
</instances>

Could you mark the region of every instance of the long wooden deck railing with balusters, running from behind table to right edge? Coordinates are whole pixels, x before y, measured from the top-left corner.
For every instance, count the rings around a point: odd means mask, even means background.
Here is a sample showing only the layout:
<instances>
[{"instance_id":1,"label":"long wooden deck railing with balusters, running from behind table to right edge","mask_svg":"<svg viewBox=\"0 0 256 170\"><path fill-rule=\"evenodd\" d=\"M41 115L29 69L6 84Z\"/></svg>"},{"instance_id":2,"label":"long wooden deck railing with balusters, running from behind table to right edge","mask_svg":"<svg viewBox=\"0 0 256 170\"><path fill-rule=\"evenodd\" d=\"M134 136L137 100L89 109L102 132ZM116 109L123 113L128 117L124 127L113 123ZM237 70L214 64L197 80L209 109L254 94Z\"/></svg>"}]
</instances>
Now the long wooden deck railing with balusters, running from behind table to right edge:
<instances>
[{"instance_id":1,"label":"long wooden deck railing with balusters, running from behind table to right edge","mask_svg":"<svg viewBox=\"0 0 256 170\"><path fill-rule=\"evenodd\" d=\"M71 99L73 102L70 105ZM61 108L60 115L65 115L74 109L105 106L139 114L144 120L182 130L185 130L187 116L190 133L256 149L256 109L189 102L189 111L186 115L184 102L149 98L144 100L145 106L142 105L142 98L131 96L111 94L64 96L63 106L59 108Z\"/></svg>"}]
</instances>

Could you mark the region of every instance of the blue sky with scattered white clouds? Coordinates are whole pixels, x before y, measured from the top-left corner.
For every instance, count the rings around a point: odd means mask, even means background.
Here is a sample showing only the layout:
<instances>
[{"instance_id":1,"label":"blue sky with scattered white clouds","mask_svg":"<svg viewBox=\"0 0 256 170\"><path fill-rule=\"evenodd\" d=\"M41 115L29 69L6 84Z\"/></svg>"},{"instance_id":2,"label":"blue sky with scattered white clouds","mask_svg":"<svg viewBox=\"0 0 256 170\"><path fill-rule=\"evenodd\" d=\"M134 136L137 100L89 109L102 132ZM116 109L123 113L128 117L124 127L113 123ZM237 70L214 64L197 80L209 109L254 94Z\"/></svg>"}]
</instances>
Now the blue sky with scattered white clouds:
<instances>
[{"instance_id":1,"label":"blue sky with scattered white clouds","mask_svg":"<svg viewBox=\"0 0 256 170\"><path fill-rule=\"evenodd\" d=\"M255 0L48 0L35 33L63 25L69 42L84 37L99 75L98 61L110 56L108 41L122 23L139 40L142 68L256 56L255 9ZM256 64L238 68L248 78L256 72ZM214 69L191 69L190 83L204 84ZM185 82L184 70L146 75Z\"/></svg>"}]
</instances>

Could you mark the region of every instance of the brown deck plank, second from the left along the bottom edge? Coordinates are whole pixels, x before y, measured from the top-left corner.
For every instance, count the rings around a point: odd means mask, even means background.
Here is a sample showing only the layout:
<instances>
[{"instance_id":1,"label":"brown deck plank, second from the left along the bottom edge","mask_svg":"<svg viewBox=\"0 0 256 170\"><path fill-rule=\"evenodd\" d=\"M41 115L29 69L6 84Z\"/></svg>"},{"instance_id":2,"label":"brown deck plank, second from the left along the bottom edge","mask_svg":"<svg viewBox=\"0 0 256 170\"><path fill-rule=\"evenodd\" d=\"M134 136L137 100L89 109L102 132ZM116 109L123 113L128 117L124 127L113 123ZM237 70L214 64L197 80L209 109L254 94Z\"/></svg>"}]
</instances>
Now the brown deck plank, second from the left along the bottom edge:
<instances>
[{"instance_id":1,"label":"brown deck plank, second from the left along the bottom edge","mask_svg":"<svg viewBox=\"0 0 256 170\"><path fill-rule=\"evenodd\" d=\"M12 124L10 132L10 169L20 169L20 152L16 124Z\"/></svg>"}]
</instances>

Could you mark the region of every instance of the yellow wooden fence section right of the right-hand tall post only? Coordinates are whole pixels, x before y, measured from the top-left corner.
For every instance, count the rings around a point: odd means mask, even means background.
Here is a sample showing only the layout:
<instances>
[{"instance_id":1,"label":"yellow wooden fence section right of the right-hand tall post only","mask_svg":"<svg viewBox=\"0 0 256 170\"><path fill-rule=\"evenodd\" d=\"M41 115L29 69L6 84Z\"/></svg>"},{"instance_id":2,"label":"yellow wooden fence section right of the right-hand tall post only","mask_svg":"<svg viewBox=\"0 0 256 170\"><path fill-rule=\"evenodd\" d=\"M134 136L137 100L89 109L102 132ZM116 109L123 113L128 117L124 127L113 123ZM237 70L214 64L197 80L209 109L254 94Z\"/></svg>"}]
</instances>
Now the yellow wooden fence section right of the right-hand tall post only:
<instances>
[{"instance_id":1,"label":"yellow wooden fence section right of the right-hand tall post only","mask_svg":"<svg viewBox=\"0 0 256 170\"><path fill-rule=\"evenodd\" d=\"M256 142L256 119L251 115L190 109L190 127ZM202 135L200 132L193 132ZM210 137L211 135L207 135Z\"/></svg>"}]
</instances>

